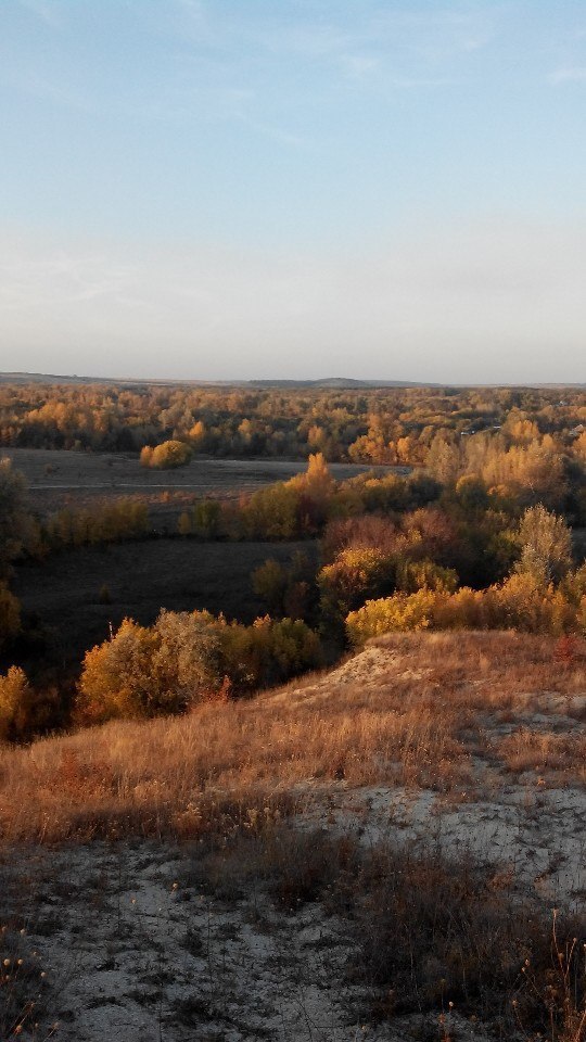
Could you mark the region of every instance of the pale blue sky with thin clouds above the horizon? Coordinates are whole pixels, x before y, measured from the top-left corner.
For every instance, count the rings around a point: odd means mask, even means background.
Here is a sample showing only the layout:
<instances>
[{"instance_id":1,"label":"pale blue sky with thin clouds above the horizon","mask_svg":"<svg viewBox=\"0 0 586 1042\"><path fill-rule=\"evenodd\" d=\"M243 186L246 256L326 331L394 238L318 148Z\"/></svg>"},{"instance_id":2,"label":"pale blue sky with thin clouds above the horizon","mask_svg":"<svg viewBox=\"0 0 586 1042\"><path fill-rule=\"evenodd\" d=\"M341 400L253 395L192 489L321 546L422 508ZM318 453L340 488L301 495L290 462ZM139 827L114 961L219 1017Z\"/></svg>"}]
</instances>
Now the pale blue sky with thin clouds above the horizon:
<instances>
[{"instance_id":1,"label":"pale blue sky with thin clouds above the horizon","mask_svg":"<svg viewBox=\"0 0 586 1042\"><path fill-rule=\"evenodd\" d=\"M0 0L0 370L586 381L584 0Z\"/></svg>"}]
</instances>

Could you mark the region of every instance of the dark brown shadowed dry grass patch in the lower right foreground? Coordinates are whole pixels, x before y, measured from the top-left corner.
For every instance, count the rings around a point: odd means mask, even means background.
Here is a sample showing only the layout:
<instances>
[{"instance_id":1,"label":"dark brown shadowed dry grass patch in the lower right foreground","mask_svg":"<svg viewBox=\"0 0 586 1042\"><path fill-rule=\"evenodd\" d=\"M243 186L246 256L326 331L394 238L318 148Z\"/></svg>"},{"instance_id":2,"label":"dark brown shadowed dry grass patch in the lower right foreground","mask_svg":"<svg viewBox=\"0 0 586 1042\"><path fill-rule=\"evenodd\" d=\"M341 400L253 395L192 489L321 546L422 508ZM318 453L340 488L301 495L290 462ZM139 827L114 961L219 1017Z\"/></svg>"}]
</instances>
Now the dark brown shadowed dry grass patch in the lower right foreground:
<instances>
[{"instance_id":1,"label":"dark brown shadowed dry grass patch in the lower right foreground","mask_svg":"<svg viewBox=\"0 0 586 1042\"><path fill-rule=\"evenodd\" d=\"M455 873L437 849L365 850L349 835L258 823L198 848L186 882L232 901L259 885L289 915L319 903L344 924L347 973L375 1020L455 1008L499 1039L585 1037L584 915L552 919L509 873L466 854ZM453 1038L450 1019L434 1039Z\"/></svg>"}]
</instances>

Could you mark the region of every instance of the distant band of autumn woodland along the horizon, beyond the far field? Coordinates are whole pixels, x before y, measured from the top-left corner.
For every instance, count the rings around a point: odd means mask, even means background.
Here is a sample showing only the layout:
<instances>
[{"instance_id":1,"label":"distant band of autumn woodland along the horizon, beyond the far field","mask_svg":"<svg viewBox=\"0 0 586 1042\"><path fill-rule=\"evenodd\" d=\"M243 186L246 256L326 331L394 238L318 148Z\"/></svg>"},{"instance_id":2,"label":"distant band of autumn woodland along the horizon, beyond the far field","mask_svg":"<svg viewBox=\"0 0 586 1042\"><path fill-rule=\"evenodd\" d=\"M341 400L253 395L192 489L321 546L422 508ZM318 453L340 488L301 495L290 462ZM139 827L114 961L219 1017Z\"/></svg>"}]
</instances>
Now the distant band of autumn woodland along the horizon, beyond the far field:
<instances>
[{"instance_id":1,"label":"distant band of autumn woodland along the horizon, beyond the far field","mask_svg":"<svg viewBox=\"0 0 586 1042\"><path fill-rule=\"evenodd\" d=\"M575 387L0 385L0 447L139 453L176 441L220 457L319 452L329 461L426 466L437 439L456 448L486 435L499 453L535 443L584 461L585 428L586 391Z\"/></svg>"}]
</instances>

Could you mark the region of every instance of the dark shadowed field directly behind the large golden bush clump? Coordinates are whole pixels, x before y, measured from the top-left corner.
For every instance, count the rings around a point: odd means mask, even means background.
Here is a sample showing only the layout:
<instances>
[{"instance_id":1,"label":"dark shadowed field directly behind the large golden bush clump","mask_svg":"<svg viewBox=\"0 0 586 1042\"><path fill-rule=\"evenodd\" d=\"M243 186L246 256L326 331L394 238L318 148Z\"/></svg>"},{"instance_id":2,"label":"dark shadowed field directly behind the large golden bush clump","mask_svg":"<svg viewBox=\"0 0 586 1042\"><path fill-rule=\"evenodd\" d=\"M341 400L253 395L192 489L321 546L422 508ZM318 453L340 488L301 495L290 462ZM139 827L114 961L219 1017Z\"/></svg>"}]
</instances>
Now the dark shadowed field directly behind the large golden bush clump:
<instances>
[{"instance_id":1,"label":"dark shadowed field directly behind the large golden bush clump","mask_svg":"<svg viewBox=\"0 0 586 1042\"><path fill-rule=\"evenodd\" d=\"M198 543L160 538L139 543L79 547L50 555L42 563L21 566L13 588L23 610L53 633L60 658L77 663L105 640L110 624L130 615L151 625L161 608L205 608L253 622L263 614L251 572L267 558L282 563L301 550L317 557L317 544ZM110 602L101 602L107 586Z\"/></svg>"}]
</instances>

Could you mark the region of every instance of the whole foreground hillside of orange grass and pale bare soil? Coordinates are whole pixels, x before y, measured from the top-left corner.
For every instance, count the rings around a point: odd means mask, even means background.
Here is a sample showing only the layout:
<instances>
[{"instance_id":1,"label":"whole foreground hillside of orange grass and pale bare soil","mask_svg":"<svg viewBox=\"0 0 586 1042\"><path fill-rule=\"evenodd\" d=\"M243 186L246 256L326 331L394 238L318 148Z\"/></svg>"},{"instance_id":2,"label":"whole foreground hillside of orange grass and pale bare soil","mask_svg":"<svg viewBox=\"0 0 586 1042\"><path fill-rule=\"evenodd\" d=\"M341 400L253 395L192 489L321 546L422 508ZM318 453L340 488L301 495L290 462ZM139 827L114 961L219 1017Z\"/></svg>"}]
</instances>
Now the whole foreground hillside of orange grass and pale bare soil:
<instances>
[{"instance_id":1,"label":"whole foreground hillside of orange grass and pale bare soil","mask_svg":"<svg viewBox=\"0 0 586 1042\"><path fill-rule=\"evenodd\" d=\"M66 1042L583 1042L560 967L565 916L586 939L585 717L583 649L404 634L250 701L2 750L39 1017Z\"/></svg>"}]
</instances>

